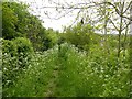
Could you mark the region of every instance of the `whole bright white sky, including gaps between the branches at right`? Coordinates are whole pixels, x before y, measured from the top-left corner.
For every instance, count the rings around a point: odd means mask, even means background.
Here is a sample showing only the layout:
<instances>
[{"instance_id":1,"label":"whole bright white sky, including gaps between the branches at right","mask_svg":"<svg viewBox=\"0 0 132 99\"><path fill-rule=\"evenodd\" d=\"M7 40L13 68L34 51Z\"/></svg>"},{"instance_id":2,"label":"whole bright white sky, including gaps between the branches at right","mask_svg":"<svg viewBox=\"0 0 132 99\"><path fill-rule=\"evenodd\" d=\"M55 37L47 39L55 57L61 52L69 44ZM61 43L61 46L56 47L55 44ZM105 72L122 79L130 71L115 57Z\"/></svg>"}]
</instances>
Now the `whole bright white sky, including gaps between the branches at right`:
<instances>
[{"instance_id":1,"label":"whole bright white sky, including gaps between the branches at right","mask_svg":"<svg viewBox=\"0 0 132 99\"><path fill-rule=\"evenodd\" d=\"M65 7L68 7L68 4L74 6L77 3L85 3L85 2L90 2L90 1L102 1L102 0L19 0L22 2L25 2L30 6L31 13L34 15L38 15L38 18L44 22L43 25L44 28L48 29L52 28L53 30L57 30L59 32L63 32L64 26L69 26L75 22L75 18L77 16L77 12L79 10L74 10L70 14L66 14L66 16L62 16L58 20L55 20L54 18L59 18L64 12L56 11L56 9L50 9L50 8L43 8L43 7L55 7L57 2L64 4ZM111 0L107 0L111 1ZM112 1L121 1L121 0L112 0ZM127 0L128 1L128 0ZM67 4L68 3L68 4ZM50 19L45 13L48 13L52 19ZM96 14L92 9L90 9L90 15ZM94 19L98 19L97 16ZM81 19L79 19L81 20Z\"/></svg>"}]
</instances>

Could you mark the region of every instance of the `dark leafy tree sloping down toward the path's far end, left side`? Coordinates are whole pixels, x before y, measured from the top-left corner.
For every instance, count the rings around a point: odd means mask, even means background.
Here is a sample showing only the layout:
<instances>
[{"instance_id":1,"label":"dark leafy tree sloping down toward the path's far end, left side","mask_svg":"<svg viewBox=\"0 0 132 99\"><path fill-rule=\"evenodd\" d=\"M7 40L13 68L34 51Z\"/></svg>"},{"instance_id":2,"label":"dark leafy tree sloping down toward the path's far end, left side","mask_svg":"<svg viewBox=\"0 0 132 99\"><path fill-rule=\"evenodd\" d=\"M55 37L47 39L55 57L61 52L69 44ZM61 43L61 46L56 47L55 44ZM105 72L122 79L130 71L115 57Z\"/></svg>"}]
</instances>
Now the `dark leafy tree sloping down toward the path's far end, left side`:
<instances>
[{"instance_id":1,"label":"dark leafy tree sloping down toward the path's far end, left side","mask_svg":"<svg viewBox=\"0 0 132 99\"><path fill-rule=\"evenodd\" d=\"M26 29L25 33L26 37L32 42L34 51L47 50L48 46L44 44L51 41L46 35L45 28L43 28L42 22L38 20L37 16L34 15L30 15L28 20L29 22L25 24L29 25L28 28L25 28Z\"/></svg>"}]
</instances>

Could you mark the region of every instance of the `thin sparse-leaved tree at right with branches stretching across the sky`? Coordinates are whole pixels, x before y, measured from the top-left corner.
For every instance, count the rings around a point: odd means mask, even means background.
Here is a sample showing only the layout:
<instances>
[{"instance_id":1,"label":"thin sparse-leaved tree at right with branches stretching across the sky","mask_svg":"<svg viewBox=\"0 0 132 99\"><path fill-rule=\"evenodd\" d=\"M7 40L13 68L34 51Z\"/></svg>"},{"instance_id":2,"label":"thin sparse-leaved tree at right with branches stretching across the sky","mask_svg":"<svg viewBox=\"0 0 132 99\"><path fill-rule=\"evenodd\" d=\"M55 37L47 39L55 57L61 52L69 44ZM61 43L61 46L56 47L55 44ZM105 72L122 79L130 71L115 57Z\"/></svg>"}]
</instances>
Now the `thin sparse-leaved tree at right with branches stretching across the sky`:
<instances>
[{"instance_id":1,"label":"thin sparse-leaved tree at right with branches stretching across the sky","mask_svg":"<svg viewBox=\"0 0 132 99\"><path fill-rule=\"evenodd\" d=\"M66 15L70 15L76 10L77 16L75 19L74 23L77 23L78 20L81 18L86 19L85 23L90 23L92 26L96 28L98 23L105 22L105 26L101 29L107 34L107 31L114 31L118 32L118 57L120 57L121 52L121 35L123 34L124 30L128 29L128 25L130 25L131 18L128 16L129 9L131 7L132 1L125 2L124 0L121 2L114 2L113 0L109 1L102 1L102 2L95 2L95 1L81 1L76 3L68 3L68 2L54 2L51 1L50 3L53 3L53 7L42 7L40 9L54 9L56 10L56 15L53 18L51 16L51 12L46 12L45 15L50 19L61 19ZM91 9L92 8L92 9ZM103 12L103 15L99 15L97 10L102 9L101 13ZM94 13L94 14L92 14ZM101 18L103 16L103 18ZM119 20L120 18L120 20ZM101 20L101 21L100 21ZM113 26L112 29L108 28L108 23L111 23ZM125 33L125 37L127 37ZM107 41L107 37L105 38ZM107 43L107 42L106 42ZM106 44L107 45L107 44Z\"/></svg>"}]
</instances>

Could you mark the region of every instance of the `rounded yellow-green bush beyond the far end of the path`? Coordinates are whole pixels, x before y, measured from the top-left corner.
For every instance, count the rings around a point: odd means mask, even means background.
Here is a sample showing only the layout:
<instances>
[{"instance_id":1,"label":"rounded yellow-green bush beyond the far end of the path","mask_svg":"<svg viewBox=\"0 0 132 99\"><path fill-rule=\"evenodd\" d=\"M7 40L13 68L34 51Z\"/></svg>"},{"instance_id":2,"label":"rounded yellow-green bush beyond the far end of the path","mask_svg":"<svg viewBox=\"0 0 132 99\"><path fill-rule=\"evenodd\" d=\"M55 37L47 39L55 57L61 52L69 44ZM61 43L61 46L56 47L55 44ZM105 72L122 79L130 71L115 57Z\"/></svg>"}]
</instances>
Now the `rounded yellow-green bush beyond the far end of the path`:
<instances>
[{"instance_id":1,"label":"rounded yellow-green bush beyond the far end of the path","mask_svg":"<svg viewBox=\"0 0 132 99\"><path fill-rule=\"evenodd\" d=\"M64 38L80 50L88 51L90 45L90 35L94 33L90 24L77 24L72 29L66 29Z\"/></svg>"}]
</instances>

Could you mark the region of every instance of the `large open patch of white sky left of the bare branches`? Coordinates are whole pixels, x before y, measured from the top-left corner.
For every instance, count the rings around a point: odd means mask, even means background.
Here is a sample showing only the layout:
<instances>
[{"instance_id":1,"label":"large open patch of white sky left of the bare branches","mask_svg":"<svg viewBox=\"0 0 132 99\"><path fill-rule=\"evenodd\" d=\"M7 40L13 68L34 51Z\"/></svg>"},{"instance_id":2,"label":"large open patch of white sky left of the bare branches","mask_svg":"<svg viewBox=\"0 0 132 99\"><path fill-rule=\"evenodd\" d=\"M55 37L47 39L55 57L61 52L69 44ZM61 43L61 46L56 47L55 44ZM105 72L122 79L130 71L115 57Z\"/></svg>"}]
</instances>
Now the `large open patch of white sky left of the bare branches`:
<instances>
[{"instance_id":1,"label":"large open patch of white sky left of the bare branches","mask_svg":"<svg viewBox=\"0 0 132 99\"><path fill-rule=\"evenodd\" d=\"M50 1L52 0L19 0L25 3L30 4L30 8L33 9L33 11L31 13L33 13L34 15L40 15L40 19L44 21L43 25L44 28L48 29L52 28L54 30L57 31L63 31L64 26L68 26L70 25L76 18L76 13L77 11L74 11L70 15L66 15L66 16L62 16L58 20L55 20L53 18L57 15L59 15L59 13L56 13L56 9L41 9L42 7L46 6L46 7L54 7L54 3L51 3ZM55 2L68 2L68 3L76 3L76 2L81 2L81 0L54 0ZM63 2L65 1L65 2ZM47 18L44 12L51 12L51 18Z\"/></svg>"}]
</instances>

